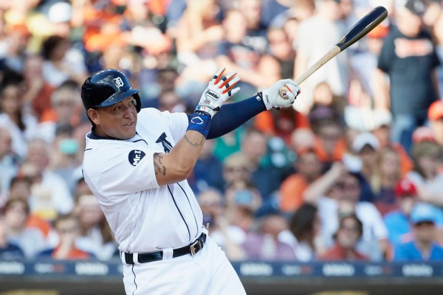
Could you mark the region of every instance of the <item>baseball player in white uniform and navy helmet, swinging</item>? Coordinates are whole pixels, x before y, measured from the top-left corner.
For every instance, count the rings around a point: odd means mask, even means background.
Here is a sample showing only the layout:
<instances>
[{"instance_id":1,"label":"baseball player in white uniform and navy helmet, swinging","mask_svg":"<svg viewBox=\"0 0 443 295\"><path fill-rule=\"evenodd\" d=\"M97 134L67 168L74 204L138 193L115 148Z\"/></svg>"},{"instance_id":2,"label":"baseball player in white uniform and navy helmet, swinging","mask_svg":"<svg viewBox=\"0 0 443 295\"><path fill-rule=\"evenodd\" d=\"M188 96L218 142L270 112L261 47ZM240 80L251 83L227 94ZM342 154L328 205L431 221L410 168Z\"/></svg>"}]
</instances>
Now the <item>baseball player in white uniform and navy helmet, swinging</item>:
<instances>
[{"instance_id":1,"label":"baseball player in white uniform and navy helmet, swinging","mask_svg":"<svg viewBox=\"0 0 443 295\"><path fill-rule=\"evenodd\" d=\"M245 294L202 225L186 178L206 139L266 109L291 106L300 88L280 80L254 97L224 104L239 91L239 77L223 73L209 82L192 115L142 109L140 90L118 70L101 70L82 85L92 123L84 179L118 242L127 294Z\"/></svg>"}]
</instances>

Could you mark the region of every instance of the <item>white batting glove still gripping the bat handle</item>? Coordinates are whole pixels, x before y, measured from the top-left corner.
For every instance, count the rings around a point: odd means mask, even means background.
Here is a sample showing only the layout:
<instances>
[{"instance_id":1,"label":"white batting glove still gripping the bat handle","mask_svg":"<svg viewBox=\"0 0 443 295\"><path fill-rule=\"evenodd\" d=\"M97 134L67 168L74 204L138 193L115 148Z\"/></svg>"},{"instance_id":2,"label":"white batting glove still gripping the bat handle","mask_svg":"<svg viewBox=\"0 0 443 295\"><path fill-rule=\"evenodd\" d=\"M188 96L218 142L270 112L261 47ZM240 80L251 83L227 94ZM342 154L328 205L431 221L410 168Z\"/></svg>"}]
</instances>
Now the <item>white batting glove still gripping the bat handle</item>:
<instances>
[{"instance_id":1,"label":"white batting glove still gripping the bat handle","mask_svg":"<svg viewBox=\"0 0 443 295\"><path fill-rule=\"evenodd\" d=\"M280 88L286 88L287 91L283 91L280 94ZM291 106L299 94L300 86L298 86L298 84L293 82L291 79L279 80L278 82L272 84L271 87L261 91L261 93L258 93L258 95L263 99L267 110L270 110L271 108L279 109Z\"/></svg>"}]
</instances>

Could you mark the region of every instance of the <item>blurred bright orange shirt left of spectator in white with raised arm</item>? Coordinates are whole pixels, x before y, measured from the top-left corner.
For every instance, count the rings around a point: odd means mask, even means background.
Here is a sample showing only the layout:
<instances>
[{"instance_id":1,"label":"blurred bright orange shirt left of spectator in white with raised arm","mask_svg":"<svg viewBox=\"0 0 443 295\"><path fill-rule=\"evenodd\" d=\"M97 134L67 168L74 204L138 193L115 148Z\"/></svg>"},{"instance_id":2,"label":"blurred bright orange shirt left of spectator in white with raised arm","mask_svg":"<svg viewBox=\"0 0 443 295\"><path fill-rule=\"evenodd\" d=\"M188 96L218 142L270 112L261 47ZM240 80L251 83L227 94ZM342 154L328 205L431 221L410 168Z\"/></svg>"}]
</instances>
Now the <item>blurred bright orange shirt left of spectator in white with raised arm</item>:
<instances>
[{"instance_id":1,"label":"blurred bright orange shirt left of spectator in white with raised arm","mask_svg":"<svg viewBox=\"0 0 443 295\"><path fill-rule=\"evenodd\" d=\"M303 193L308 184L302 175L293 174L285 179L280 186L280 209L293 212L303 203Z\"/></svg>"}]
</instances>

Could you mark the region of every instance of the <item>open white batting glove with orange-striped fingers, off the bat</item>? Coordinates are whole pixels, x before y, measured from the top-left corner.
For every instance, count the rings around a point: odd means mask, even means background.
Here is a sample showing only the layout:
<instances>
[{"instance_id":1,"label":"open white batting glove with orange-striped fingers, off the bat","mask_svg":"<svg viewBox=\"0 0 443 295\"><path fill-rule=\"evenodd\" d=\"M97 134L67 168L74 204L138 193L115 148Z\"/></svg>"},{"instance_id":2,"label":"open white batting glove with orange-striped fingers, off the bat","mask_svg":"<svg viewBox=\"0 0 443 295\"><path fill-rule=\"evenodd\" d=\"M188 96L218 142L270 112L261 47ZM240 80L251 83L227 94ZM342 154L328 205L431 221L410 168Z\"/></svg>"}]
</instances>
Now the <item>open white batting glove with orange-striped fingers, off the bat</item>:
<instances>
[{"instance_id":1,"label":"open white batting glove with orange-striped fingers, off the bat","mask_svg":"<svg viewBox=\"0 0 443 295\"><path fill-rule=\"evenodd\" d=\"M237 73L233 72L224 77L224 70L225 68L218 70L217 74L210 80L195 111L207 113L213 117L229 97L239 92L239 87L234 88L240 81L239 77L235 77Z\"/></svg>"}]
</instances>

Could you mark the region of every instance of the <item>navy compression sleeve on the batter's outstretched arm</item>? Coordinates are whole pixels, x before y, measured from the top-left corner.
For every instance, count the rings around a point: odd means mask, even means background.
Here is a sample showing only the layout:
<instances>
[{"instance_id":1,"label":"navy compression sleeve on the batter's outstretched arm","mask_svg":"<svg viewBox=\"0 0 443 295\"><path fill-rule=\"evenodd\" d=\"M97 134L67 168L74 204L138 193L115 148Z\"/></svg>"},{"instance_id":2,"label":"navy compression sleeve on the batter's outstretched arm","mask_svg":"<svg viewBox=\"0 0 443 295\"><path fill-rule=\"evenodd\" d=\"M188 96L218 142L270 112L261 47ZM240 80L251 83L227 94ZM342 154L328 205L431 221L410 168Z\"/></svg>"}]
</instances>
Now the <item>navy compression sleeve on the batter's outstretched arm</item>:
<instances>
[{"instance_id":1,"label":"navy compression sleeve on the batter's outstretched arm","mask_svg":"<svg viewBox=\"0 0 443 295\"><path fill-rule=\"evenodd\" d=\"M237 127L248 122L252 117L266 111L266 106L260 98L249 97L241 102L233 102L232 104L224 104L221 106L210 122L210 129L206 139L220 137L226 133L230 133ZM188 115L188 120L191 119Z\"/></svg>"}]
</instances>

